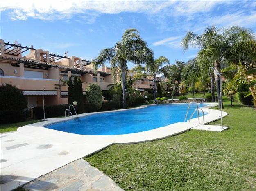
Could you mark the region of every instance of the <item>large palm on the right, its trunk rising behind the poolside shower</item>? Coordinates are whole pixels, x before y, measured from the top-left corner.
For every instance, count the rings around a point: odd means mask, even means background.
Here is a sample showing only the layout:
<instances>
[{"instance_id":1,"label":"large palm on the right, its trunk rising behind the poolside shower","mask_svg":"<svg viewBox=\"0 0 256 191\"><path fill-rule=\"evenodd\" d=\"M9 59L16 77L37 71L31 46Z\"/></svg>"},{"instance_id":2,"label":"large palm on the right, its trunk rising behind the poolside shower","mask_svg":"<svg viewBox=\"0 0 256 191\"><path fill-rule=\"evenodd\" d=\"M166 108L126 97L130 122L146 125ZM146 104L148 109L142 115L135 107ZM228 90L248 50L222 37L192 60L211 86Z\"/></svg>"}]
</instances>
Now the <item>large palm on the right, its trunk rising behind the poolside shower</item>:
<instances>
[{"instance_id":1,"label":"large palm on the right, its trunk rising behind the poolside shower","mask_svg":"<svg viewBox=\"0 0 256 191\"><path fill-rule=\"evenodd\" d=\"M242 46L237 49L232 49L234 44L237 44L241 39L253 39L251 31L242 27L231 27L228 29L217 29L215 25L206 27L206 30L201 35L197 35L188 31L186 36L182 39L184 50L188 50L189 45L199 48L197 54L199 65L210 62L220 73L221 64L226 62L230 55L241 50ZM215 73L215 82L217 86L217 96L220 107L220 76Z\"/></svg>"}]
</instances>

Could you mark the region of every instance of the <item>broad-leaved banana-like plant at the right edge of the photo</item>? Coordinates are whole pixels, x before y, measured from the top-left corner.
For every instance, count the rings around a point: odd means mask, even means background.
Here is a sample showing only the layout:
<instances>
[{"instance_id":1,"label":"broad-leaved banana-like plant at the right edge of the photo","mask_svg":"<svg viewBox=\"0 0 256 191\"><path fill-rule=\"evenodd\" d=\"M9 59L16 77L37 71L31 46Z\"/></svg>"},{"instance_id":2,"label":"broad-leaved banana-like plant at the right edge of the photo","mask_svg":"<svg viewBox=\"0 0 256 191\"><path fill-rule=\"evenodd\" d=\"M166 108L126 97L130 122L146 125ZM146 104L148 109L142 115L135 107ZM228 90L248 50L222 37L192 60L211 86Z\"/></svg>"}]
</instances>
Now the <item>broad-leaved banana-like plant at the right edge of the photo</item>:
<instances>
[{"instance_id":1,"label":"broad-leaved banana-like plant at the right edge of the photo","mask_svg":"<svg viewBox=\"0 0 256 191\"><path fill-rule=\"evenodd\" d=\"M256 95L255 95L256 89L254 88L256 86L256 79L249 78L249 76L256 73L256 67L251 69L246 69L246 67L243 66L241 62L239 62L238 65L233 64L227 68L222 69L221 71L222 72L236 71L236 76L234 76L234 78L229 82L227 89L233 88L233 86L236 83L239 83L239 81L246 80L250 90L250 93L247 96L251 95L253 97L254 106L256 106Z\"/></svg>"}]
</instances>

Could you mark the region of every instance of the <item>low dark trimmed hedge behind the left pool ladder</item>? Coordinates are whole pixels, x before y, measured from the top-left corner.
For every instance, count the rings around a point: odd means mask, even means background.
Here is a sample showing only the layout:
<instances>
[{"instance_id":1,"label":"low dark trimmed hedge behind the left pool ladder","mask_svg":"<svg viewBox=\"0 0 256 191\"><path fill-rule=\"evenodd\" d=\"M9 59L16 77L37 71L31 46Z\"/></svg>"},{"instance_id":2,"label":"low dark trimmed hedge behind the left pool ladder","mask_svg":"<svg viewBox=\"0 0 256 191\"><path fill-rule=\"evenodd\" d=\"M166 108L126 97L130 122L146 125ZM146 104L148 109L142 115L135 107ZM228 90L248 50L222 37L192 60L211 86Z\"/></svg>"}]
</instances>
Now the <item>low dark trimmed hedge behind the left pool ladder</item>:
<instances>
[{"instance_id":1,"label":"low dark trimmed hedge behind the left pool ladder","mask_svg":"<svg viewBox=\"0 0 256 191\"><path fill-rule=\"evenodd\" d=\"M45 118L65 116L65 110L68 109L68 106L69 104L45 106ZM73 115L75 114L72 108L70 111ZM68 112L66 115L68 115ZM43 106L34 107L34 118L43 119Z\"/></svg>"}]
</instances>

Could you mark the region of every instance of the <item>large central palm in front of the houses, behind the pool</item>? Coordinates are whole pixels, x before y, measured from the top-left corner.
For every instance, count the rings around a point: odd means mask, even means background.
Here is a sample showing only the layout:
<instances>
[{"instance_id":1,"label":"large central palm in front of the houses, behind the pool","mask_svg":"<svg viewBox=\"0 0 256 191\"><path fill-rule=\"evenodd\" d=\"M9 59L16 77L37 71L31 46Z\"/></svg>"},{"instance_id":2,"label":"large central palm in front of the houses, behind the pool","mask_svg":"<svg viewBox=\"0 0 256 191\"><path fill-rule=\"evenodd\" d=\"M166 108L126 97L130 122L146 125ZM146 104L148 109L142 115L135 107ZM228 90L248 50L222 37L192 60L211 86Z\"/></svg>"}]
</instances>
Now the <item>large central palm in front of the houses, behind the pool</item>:
<instances>
[{"instance_id":1,"label":"large central palm in front of the houses, behind the pool","mask_svg":"<svg viewBox=\"0 0 256 191\"><path fill-rule=\"evenodd\" d=\"M148 61L148 59L153 58L153 51L147 48L147 43L140 38L138 33L136 29L127 29L121 41L117 42L113 48L102 49L99 56L93 60L93 68L95 71L97 71L97 68L104 64L104 62L110 62L114 78L116 78L116 72L121 70L124 108L127 108L125 88L127 62L140 65Z\"/></svg>"}]
</instances>

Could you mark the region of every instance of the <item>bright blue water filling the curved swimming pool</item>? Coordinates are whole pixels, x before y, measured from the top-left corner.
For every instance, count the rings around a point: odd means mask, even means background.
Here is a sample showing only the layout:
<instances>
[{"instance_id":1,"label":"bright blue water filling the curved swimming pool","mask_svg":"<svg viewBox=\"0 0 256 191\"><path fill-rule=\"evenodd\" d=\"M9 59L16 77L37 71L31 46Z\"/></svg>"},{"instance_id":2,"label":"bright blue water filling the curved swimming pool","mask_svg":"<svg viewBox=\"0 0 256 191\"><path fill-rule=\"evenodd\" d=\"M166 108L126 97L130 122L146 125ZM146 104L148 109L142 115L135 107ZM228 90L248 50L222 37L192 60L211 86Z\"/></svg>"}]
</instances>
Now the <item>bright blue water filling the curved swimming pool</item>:
<instances>
[{"instance_id":1,"label":"bright blue water filling the curved swimming pool","mask_svg":"<svg viewBox=\"0 0 256 191\"><path fill-rule=\"evenodd\" d=\"M206 104L199 104L203 107ZM169 124L183 122L188 104L154 105L141 109L88 115L76 120L46 125L44 127L80 135L121 135L148 131ZM188 118L196 106L190 105ZM207 114L207 113L205 113ZM202 116L202 113L199 113ZM197 117L197 112L193 118Z\"/></svg>"}]
</instances>

